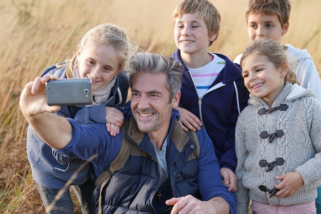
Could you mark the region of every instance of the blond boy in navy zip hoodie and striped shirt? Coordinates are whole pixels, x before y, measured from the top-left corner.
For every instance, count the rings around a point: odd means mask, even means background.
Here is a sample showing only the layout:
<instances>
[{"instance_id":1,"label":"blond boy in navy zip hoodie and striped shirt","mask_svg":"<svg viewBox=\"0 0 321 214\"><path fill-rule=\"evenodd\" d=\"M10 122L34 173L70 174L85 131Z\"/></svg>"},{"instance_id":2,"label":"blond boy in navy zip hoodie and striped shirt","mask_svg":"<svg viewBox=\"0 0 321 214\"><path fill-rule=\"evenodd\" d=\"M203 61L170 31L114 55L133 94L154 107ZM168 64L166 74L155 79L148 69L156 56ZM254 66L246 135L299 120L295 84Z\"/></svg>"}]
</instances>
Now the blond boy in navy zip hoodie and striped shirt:
<instances>
[{"instance_id":1,"label":"blond boy in navy zip hoodie and striped shirt","mask_svg":"<svg viewBox=\"0 0 321 214\"><path fill-rule=\"evenodd\" d=\"M208 0L185 0L173 13L173 58L184 69L182 97L177 110L186 131L203 125L213 141L222 181L236 190L235 124L247 105L241 70L228 57L208 52L216 40L220 14Z\"/></svg>"}]
</instances>

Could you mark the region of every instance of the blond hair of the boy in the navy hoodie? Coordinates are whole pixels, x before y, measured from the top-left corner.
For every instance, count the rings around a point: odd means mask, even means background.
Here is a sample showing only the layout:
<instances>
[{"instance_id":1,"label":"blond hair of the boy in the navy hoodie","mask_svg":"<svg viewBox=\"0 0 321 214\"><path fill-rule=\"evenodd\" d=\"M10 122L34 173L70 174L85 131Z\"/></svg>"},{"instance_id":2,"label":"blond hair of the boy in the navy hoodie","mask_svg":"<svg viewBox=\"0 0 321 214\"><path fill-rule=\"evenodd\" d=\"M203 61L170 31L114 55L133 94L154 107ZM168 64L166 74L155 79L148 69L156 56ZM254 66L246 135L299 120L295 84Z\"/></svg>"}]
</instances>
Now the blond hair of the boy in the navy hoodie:
<instances>
[{"instance_id":1,"label":"blond hair of the boy in the navy hoodie","mask_svg":"<svg viewBox=\"0 0 321 214\"><path fill-rule=\"evenodd\" d=\"M216 34L217 38L220 25L220 14L212 3L208 0L184 0L182 3L177 5L174 10L172 16L173 25L175 26L176 18L181 18L187 13L195 13L197 18L204 18L209 37ZM210 41L209 46L212 44L213 41Z\"/></svg>"}]
</instances>

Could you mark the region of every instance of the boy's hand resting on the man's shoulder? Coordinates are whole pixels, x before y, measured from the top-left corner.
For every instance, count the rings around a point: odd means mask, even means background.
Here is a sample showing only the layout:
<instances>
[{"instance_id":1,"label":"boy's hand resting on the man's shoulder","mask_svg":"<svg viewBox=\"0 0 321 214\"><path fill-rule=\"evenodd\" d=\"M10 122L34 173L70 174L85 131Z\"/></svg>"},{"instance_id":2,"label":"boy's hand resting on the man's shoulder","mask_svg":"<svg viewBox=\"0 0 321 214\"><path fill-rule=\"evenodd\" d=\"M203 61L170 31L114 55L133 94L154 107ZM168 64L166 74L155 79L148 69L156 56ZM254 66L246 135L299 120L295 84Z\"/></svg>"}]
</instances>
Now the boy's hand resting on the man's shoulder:
<instances>
[{"instance_id":1,"label":"boy's hand resting on the man's shoulder","mask_svg":"<svg viewBox=\"0 0 321 214\"><path fill-rule=\"evenodd\" d=\"M198 119L197 116L195 116L190 111L177 107L176 108L179 112L179 125L182 127L182 129L187 132L188 130L196 131L200 130L200 126L202 126L202 122Z\"/></svg>"}]
</instances>

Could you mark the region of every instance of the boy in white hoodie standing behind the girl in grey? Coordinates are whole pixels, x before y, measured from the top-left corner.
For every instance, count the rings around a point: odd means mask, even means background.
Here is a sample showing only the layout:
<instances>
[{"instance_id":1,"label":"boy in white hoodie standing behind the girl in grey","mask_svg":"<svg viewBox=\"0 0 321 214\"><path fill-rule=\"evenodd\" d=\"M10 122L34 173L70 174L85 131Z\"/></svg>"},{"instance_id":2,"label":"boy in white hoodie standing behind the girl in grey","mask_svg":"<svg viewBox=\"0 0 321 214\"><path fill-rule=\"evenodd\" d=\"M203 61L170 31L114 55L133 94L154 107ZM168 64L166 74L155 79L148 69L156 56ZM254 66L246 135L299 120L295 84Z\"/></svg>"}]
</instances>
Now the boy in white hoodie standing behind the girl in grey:
<instances>
[{"instance_id":1,"label":"boy in white hoodie standing behind the girl in grey","mask_svg":"<svg viewBox=\"0 0 321 214\"><path fill-rule=\"evenodd\" d=\"M289 0L249 0L245 14L250 40L267 38L280 42L289 30L290 10ZM286 44L285 49L297 62L294 71L300 85L311 89L321 102L321 82L311 55L306 49L300 50L290 44ZM234 62L239 64L241 56L242 54L238 55Z\"/></svg>"}]
</instances>

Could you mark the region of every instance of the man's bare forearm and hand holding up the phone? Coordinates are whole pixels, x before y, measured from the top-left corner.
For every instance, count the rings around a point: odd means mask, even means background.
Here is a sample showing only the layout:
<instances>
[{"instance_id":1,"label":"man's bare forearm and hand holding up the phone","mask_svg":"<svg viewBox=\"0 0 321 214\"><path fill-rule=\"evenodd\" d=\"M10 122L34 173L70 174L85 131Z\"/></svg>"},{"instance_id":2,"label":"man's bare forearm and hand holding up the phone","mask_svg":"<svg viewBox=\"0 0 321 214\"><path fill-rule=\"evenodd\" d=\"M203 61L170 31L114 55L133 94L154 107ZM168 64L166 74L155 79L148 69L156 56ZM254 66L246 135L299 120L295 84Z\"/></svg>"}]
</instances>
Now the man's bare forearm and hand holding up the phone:
<instances>
[{"instance_id":1,"label":"man's bare forearm and hand holding up the phone","mask_svg":"<svg viewBox=\"0 0 321 214\"><path fill-rule=\"evenodd\" d=\"M45 75L28 82L20 97L20 109L36 135L53 148L64 148L72 137L72 127L68 120L52 112L60 106L47 105L45 82L56 79Z\"/></svg>"}]
</instances>

